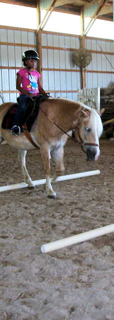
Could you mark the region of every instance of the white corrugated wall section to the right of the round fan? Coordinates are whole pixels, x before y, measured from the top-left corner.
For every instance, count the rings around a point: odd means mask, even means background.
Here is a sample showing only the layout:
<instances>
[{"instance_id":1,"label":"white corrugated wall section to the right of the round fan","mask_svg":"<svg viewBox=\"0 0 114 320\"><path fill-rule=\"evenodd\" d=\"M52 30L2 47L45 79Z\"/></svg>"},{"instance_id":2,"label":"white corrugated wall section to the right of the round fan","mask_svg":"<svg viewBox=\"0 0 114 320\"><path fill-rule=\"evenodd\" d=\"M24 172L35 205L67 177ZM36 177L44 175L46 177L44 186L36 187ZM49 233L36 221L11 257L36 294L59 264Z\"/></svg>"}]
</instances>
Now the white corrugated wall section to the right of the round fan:
<instances>
[{"instance_id":1,"label":"white corrugated wall section to the right of the round fan","mask_svg":"<svg viewBox=\"0 0 114 320\"><path fill-rule=\"evenodd\" d=\"M107 87L114 81L113 41L86 38L86 48L92 53L92 61L86 67L87 88Z\"/></svg>"}]
</instances>

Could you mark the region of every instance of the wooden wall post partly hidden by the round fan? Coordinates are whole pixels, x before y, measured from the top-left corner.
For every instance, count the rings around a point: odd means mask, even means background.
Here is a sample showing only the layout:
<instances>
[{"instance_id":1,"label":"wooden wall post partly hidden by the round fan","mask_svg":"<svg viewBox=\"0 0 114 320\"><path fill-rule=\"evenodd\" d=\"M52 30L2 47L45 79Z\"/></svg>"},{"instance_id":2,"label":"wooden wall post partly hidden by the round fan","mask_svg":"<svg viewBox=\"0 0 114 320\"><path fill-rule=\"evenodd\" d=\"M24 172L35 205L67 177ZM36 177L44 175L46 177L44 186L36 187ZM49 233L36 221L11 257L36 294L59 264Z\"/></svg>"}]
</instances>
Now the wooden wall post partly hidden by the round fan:
<instances>
[{"instance_id":1,"label":"wooden wall post partly hidden by the round fan","mask_svg":"<svg viewBox=\"0 0 114 320\"><path fill-rule=\"evenodd\" d=\"M83 34L84 31L84 8L82 8L81 11L81 34ZM85 36L81 36L80 38L80 47L85 48ZM86 88L86 69L81 69L81 89Z\"/></svg>"}]
</instances>

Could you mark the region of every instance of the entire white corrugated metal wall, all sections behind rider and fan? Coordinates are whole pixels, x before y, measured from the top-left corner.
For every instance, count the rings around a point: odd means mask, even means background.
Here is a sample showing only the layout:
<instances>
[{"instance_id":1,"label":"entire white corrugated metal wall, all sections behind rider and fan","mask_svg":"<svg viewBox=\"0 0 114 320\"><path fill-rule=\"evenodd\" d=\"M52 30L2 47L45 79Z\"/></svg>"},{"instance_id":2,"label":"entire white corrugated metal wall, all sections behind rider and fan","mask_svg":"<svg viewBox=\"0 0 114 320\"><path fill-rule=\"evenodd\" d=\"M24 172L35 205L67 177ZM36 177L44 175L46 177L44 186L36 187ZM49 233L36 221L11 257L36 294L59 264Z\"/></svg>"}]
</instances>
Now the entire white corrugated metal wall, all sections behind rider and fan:
<instances>
[{"instance_id":1,"label":"entire white corrugated metal wall, all sections behind rider and fan","mask_svg":"<svg viewBox=\"0 0 114 320\"><path fill-rule=\"evenodd\" d=\"M16 73L22 67L21 54L35 49L35 30L0 26L0 45L0 90L6 102L16 102ZM92 53L92 62L86 68L87 88L107 87L114 81L113 41L86 37L85 46ZM52 97L77 100L77 90L81 88L80 68L71 60L72 50L76 48L80 48L78 36L42 33L43 87Z\"/></svg>"}]
</instances>

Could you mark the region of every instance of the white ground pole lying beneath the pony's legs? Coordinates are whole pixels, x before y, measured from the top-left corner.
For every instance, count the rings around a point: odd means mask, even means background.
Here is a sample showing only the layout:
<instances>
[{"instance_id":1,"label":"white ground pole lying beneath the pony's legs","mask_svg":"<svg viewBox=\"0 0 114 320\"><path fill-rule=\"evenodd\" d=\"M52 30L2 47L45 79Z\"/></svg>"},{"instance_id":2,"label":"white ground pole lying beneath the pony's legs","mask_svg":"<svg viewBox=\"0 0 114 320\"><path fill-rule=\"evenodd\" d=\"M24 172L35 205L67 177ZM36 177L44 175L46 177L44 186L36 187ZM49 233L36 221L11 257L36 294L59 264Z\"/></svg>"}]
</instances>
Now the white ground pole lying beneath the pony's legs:
<instances>
[{"instance_id":1,"label":"white ground pole lying beneath the pony's legs","mask_svg":"<svg viewBox=\"0 0 114 320\"><path fill-rule=\"evenodd\" d=\"M58 176L55 179L55 181L53 181L53 178L51 178L51 182L59 182L59 181L64 181L64 180L83 178L83 177L88 177L88 176L94 176L96 174L100 174L100 171L99 170L94 170L94 171L86 171L86 172L68 174L66 176ZM34 185L46 184L46 179L34 180L32 182L33 182ZM27 186L28 186L28 184L25 183L25 182L12 184L12 185L4 185L4 186L0 187L0 192L8 191L8 190L14 190L14 189L26 188Z\"/></svg>"}]
</instances>

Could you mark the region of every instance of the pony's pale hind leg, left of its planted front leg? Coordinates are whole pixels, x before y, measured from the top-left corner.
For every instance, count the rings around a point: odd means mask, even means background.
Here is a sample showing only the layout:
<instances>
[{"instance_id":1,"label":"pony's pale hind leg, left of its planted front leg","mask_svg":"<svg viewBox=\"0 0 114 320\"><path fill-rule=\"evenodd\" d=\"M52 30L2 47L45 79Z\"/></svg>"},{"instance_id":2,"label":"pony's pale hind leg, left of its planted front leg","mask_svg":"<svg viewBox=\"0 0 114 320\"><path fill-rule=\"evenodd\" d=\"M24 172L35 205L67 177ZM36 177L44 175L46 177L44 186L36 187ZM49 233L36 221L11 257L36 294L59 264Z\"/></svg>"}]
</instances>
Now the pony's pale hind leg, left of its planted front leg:
<instances>
[{"instance_id":1,"label":"pony's pale hind leg, left of its planted front leg","mask_svg":"<svg viewBox=\"0 0 114 320\"><path fill-rule=\"evenodd\" d=\"M34 188L34 184L26 169L26 164L25 164L26 152L27 152L26 150L18 150L18 161L21 162L21 169L22 169L25 183L28 184L28 187Z\"/></svg>"}]
</instances>

